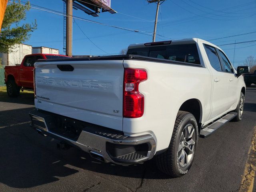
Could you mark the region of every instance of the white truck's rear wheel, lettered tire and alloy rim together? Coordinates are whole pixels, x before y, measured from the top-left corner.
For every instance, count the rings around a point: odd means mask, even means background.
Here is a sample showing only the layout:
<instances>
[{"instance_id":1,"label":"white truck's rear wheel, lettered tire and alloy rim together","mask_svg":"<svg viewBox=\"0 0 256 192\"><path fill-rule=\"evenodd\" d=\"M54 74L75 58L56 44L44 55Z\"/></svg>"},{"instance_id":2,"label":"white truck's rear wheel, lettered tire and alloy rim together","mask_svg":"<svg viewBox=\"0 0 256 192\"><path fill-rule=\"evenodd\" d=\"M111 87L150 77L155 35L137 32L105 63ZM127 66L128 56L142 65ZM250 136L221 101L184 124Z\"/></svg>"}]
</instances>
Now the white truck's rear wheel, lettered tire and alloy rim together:
<instances>
[{"instance_id":1,"label":"white truck's rear wheel, lettered tire and alloy rim together","mask_svg":"<svg viewBox=\"0 0 256 192\"><path fill-rule=\"evenodd\" d=\"M179 111L168 149L156 156L158 169L172 177L186 174L194 160L197 141L196 118L189 112Z\"/></svg>"}]
</instances>

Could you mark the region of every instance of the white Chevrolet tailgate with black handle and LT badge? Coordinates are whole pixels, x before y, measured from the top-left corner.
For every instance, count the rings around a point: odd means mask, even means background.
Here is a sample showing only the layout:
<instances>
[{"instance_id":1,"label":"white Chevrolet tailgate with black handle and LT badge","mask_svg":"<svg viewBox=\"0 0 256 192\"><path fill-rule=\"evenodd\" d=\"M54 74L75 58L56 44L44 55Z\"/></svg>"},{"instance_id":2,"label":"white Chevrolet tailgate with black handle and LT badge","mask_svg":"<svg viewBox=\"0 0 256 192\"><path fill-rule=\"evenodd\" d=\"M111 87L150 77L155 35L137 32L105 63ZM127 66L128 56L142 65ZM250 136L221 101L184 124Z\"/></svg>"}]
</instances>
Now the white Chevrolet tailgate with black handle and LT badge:
<instances>
[{"instance_id":1,"label":"white Chevrolet tailgate with black handle and LT badge","mask_svg":"<svg viewBox=\"0 0 256 192\"><path fill-rule=\"evenodd\" d=\"M122 60L46 61L35 67L36 108L122 130Z\"/></svg>"}]
</instances>

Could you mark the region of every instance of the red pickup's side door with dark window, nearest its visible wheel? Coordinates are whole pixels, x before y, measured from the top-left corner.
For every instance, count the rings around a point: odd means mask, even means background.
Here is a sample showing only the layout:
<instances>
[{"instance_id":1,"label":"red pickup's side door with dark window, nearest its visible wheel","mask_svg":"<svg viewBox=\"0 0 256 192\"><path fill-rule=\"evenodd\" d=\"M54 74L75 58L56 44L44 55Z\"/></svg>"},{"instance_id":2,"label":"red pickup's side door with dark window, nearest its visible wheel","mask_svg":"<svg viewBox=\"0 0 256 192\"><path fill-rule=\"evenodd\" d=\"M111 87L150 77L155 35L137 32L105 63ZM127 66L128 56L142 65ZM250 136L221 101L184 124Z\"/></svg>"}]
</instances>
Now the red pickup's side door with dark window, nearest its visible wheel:
<instances>
[{"instance_id":1,"label":"red pickup's side door with dark window, nearest its visible wheel","mask_svg":"<svg viewBox=\"0 0 256 192\"><path fill-rule=\"evenodd\" d=\"M33 88L33 80L34 80L34 63L36 61L35 56L26 56L24 58L24 62L20 66L20 84L25 88Z\"/></svg>"}]
</instances>

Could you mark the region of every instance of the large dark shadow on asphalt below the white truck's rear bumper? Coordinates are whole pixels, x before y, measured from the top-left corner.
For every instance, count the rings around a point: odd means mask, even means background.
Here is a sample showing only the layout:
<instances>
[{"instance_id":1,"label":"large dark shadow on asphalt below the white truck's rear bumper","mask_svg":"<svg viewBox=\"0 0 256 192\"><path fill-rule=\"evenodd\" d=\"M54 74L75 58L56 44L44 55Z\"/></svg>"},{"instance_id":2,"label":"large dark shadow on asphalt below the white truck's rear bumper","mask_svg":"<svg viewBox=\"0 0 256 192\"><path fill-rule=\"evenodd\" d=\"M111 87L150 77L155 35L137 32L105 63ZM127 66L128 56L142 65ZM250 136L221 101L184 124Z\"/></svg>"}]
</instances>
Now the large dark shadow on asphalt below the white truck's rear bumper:
<instances>
[{"instance_id":1,"label":"large dark shadow on asphalt below the white truck's rear bumper","mask_svg":"<svg viewBox=\"0 0 256 192\"><path fill-rule=\"evenodd\" d=\"M154 160L144 164L120 166L95 160L77 148L58 150L57 140L44 137L30 128L28 112L32 109L34 108L2 112L4 116L1 121L8 124L1 125L0 128L0 183L13 188L31 188L56 182L81 171L106 176L109 180L123 179L124 182L127 182L127 177L139 180L146 177L169 178L158 171Z\"/></svg>"}]
</instances>

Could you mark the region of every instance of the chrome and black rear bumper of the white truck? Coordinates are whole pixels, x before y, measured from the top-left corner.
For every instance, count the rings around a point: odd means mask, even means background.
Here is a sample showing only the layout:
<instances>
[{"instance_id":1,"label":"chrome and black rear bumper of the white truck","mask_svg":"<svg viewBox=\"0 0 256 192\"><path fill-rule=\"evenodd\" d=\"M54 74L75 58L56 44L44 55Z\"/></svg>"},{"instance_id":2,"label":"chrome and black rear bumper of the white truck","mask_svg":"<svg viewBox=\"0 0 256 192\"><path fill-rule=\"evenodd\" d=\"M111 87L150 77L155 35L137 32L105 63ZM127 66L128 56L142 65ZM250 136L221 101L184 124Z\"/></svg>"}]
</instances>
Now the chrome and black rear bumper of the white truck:
<instances>
[{"instance_id":1,"label":"chrome and black rear bumper of the white truck","mask_svg":"<svg viewBox=\"0 0 256 192\"><path fill-rule=\"evenodd\" d=\"M32 128L40 134L78 147L104 162L134 164L149 160L155 154L156 142L149 134L126 136L120 131L42 110L32 110L30 117Z\"/></svg>"}]
</instances>

